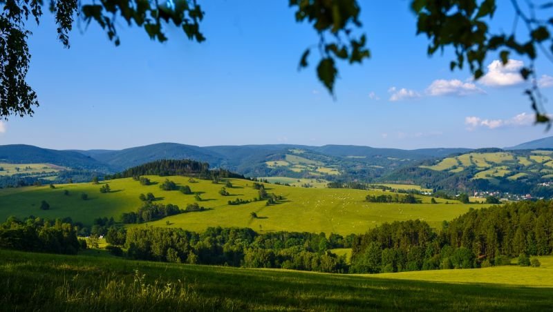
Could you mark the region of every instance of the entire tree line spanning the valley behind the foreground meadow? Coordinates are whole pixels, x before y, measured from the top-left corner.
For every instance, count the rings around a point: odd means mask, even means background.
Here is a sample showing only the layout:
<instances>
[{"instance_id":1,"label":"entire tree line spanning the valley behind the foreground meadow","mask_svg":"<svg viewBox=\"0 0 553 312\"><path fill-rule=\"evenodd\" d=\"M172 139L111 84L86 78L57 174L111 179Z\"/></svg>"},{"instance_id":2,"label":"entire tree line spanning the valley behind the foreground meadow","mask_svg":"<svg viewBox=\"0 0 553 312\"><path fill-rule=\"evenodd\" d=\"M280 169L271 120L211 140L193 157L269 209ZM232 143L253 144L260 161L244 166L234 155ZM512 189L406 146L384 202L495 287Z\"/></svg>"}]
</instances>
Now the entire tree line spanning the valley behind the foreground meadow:
<instances>
[{"instance_id":1,"label":"entire tree line spanning the valley behind the foreground meadow","mask_svg":"<svg viewBox=\"0 0 553 312\"><path fill-rule=\"evenodd\" d=\"M190 211L200 209L196 205ZM538 260L530 257L553 251L553 202L471 209L443 222L440 229L409 220L347 237L335 233L261 234L251 228L221 227L203 233L151 226L126 230L106 217L94 220L88 231L68 218L20 221L10 217L0 224L0 248L75 254L86 248L77 233L104 235L114 254L131 259L189 264L381 273L499 266L518 257L518 264L538 266ZM332 248L352 248L351 263L331 253Z\"/></svg>"}]
</instances>

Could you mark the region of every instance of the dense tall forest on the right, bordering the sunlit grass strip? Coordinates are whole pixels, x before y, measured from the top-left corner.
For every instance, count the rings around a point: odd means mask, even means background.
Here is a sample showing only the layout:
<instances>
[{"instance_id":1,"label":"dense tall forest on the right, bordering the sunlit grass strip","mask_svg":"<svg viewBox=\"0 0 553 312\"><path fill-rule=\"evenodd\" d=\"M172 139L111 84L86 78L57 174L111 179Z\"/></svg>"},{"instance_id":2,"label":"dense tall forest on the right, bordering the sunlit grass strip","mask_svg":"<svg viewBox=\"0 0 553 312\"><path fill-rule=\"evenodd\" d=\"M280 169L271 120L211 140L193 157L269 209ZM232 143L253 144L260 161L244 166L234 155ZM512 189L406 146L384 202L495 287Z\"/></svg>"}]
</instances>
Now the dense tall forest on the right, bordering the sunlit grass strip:
<instances>
[{"instance_id":1,"label":"dense tall forest on the right, bordering the sunlit grass strip","mask_svg":"<svg viewBox=\"0 0 553 312\"><path fill-rule=\"evenodd\" d=\"M355 239L351 271L468 269L552 250L553 202L517 202L471 209L441 231L418 220L383 224Z\"/></svg>"}]
</instances>

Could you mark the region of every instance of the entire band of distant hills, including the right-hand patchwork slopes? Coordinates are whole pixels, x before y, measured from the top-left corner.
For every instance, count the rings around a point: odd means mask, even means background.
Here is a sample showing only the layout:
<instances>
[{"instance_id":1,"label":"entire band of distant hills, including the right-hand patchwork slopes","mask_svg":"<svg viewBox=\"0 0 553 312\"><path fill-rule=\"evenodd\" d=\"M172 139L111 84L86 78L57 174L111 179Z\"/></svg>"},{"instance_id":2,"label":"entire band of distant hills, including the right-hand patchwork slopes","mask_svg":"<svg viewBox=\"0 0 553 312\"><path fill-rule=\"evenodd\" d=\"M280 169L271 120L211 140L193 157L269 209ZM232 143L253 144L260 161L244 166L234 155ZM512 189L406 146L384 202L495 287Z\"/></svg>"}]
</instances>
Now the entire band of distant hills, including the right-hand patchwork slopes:
<instances>
[{"instance_id":1,"label":"entire band of distant hills, including the right-hand patchwork slopes","mask_svg":"<svg viewBox=\"0 0 553 312\"><path fill-rule=\"evenodd\" d=\"M28 185L34 183L33 179L46 177L56 183L64 183L70 178L74 182L84 182L97 175L117 173L158 159L194 159L207 162L212 168L225 168L247 177L287 177L291 182L301 181L301 184L304 179L322 185L332 181L397 182L449 191L497 188L509 192L530 192L536 184L547 182L553 176L553 168L550 168L553 162L545 161L545 157L553 155L536 154L539 149L553 149L553 137L525 142L504 150L403 150L353 145L297 144L201 147L177 143L158 143L122 150L52 150L16 144L0 146L0 164L53 164L69 170L43 175L31 175L24 171L9 174L4 172L4 177L0 177L0 186ZM509 153L509 159L522 160L518 162L506 159L503 162L488 155L485 158L487 161L462 162L465 156L477 159L480 157L478 153L503 151ZM438 168L436 164L442 165ZM438 170L431 170L432 168ZM24 184L21 184L21 178L26 179Z\"/></svg>"}]
</instances>

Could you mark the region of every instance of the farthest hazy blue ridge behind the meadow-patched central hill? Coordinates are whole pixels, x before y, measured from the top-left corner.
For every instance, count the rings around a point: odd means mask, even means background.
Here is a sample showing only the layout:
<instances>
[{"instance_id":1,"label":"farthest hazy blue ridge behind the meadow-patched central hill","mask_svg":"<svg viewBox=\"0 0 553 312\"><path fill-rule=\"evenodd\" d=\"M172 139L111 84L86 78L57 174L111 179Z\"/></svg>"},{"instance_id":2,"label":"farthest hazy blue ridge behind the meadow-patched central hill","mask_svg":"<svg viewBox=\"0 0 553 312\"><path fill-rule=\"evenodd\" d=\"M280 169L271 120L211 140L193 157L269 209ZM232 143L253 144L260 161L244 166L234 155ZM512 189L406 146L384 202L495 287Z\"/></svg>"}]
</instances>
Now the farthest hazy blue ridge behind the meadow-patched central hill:
<instances>
[{"instance_id":1,"label":"farthest hazy blue ridge behind the meadow-patched central hill","mask_svg":"<svg viewBox=\"0 0 553 312\"><path fill-rule=\"evenodd\" d=\"M553 148L553 137L546 137L505 148L507 150ZM0 146L0 161L11 163L49 163L71 168L86 168L115 172L157 159L194 159L213 167L225 166L241 173L253 164L278 160L288 150L308 150L313 157L349 159L375 166L400 161L421 161L452 154L467 153L471 148L375 148L371 146L297 144L265 144L243 146L192 146L177 143L158 143L122 150L53 150L24 144ZM327 159L328 160L328 159ZM393 165L393 164L392 164Z\"/></svg>"}]
</instances>

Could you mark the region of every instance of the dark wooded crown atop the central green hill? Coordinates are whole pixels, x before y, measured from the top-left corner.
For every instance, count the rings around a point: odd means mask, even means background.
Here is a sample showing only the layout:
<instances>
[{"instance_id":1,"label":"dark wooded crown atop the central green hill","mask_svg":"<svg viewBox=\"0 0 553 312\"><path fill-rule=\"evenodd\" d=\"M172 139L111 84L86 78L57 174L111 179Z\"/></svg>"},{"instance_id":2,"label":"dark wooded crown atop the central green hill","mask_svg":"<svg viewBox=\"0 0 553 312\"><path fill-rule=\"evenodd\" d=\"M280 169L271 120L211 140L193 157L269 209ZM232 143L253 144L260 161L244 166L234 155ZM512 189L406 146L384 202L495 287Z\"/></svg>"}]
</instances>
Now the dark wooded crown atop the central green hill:
<instances>
[{"instance_id":1,"label":"dark wooded crown atop the central green hill","mask_svg":"<svg viewBox=\"0 0 553 312\"><path fill-rule=\"evenodd\" d=\"M120 179L123 177L140 177L142 175L185 175L200 179L221 179L234 177L244 179L243 175L232 173L222 168L209 170L207 162L196 162L191 159L161 159L135 166L115 175L106 175L106 179ZM142 182L141 182L142 183Z\"/></svg>"}]
</instances>

